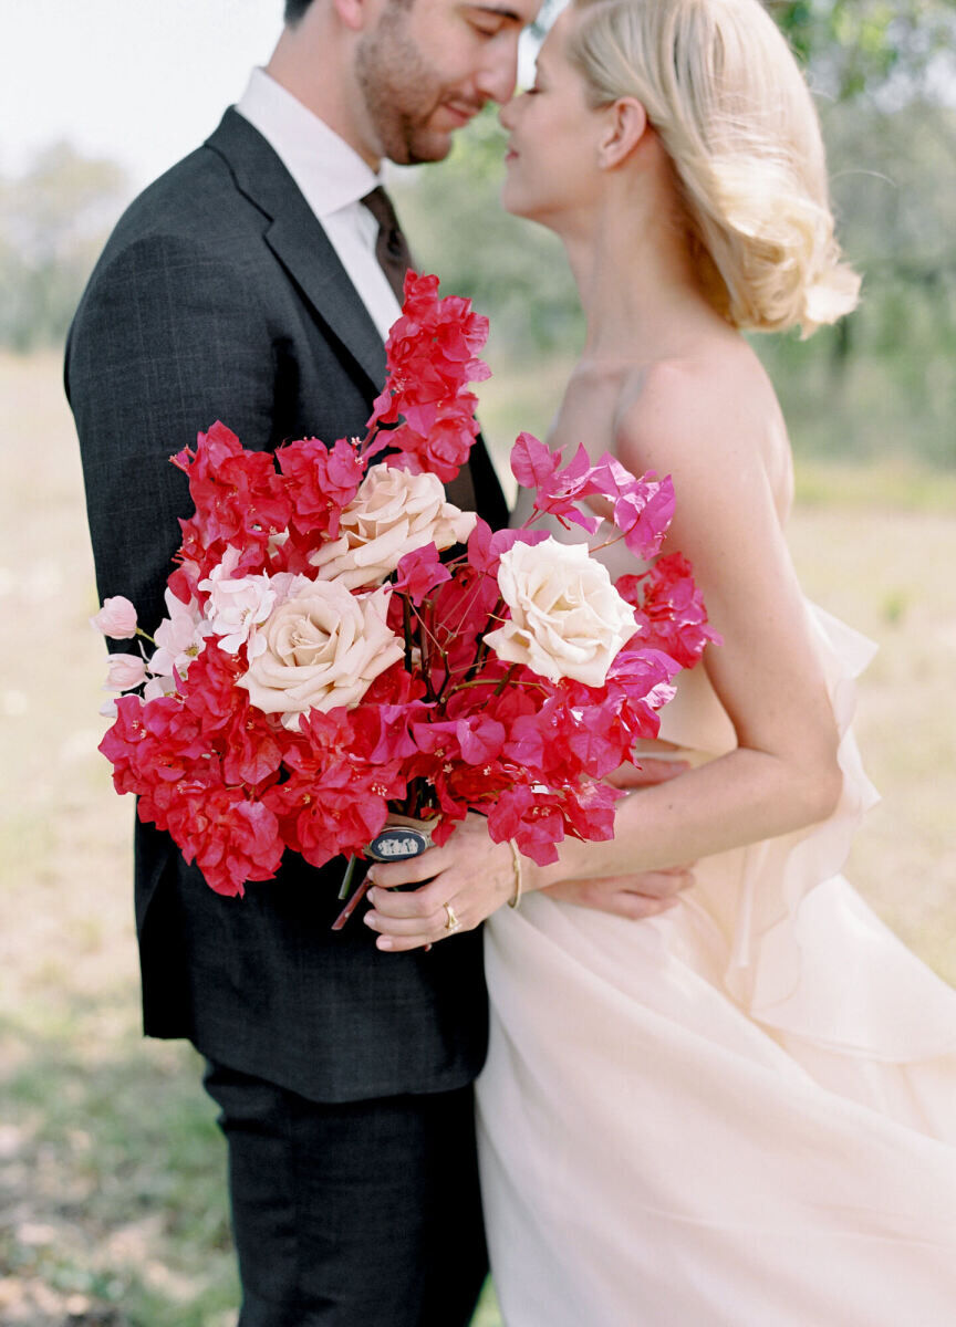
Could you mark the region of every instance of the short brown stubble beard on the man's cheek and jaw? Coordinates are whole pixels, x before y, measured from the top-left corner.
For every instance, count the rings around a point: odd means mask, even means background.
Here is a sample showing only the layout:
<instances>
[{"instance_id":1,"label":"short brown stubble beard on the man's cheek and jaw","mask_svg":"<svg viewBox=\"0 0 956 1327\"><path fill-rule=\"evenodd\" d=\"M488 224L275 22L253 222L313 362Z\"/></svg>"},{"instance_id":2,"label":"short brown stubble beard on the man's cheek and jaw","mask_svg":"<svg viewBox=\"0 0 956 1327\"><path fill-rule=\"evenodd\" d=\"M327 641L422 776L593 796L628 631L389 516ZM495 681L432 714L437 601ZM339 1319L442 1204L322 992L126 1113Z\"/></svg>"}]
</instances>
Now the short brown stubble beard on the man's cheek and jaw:
<instances>
[{"instance_id":1,"label":"short brown stubble beard on the man's cheek and jaw","mask_svg":"<svg viewBox=\"0 0 956 1327\"><path fill-rule=\"evenodd\" d=\"M381 155L414 166L447 157L451 134L428 127L443 96L442 81L405 23L404 8L386 8L378 27L358 42L355 70Z\"/></svg>"}]
</instances>

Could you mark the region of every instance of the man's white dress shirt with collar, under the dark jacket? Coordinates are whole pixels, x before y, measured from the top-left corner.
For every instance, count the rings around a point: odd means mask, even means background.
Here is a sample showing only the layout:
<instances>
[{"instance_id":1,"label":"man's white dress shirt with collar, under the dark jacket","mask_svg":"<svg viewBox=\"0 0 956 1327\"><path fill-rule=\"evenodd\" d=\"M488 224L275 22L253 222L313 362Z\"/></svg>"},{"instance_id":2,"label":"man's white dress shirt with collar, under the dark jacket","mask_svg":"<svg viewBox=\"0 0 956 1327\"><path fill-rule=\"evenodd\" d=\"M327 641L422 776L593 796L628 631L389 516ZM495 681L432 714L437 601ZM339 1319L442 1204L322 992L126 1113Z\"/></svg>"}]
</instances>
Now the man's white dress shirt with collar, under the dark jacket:
<instances>
[{"instance_id":1,"label":"man's white dress shirt with collar, under the dark jacket","mask_svg":"<svg viewBox=\"0 0 956 1327\"><path fill-rule=\"evenodd\" d=\"M381 184L381 174L264 69L252 70L236 110L259 130L305 195L385 340L400 308L376 259L378 223L360 202Z\"/></svg>"}]
</instances>

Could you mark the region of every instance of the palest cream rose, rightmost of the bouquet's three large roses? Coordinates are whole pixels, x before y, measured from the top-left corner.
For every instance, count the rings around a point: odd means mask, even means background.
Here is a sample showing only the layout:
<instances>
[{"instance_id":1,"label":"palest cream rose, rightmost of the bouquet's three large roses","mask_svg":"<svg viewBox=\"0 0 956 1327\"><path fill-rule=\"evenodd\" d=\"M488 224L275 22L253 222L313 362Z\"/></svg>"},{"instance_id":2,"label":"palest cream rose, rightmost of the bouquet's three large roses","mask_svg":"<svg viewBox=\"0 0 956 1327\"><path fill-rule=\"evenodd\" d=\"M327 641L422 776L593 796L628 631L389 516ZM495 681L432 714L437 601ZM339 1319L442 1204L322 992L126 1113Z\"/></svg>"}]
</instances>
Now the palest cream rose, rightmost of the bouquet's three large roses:
<instances>
[{"instance_id":1,"label":"palest cream rose, rightmost of the bouquet's three large roses","mask_svg":"<svg viewBox=\"0 0 956 1327\"><path fill-rule=\"evenodd\" d=\"M635 633L633 609L607 567L583 544L515 544L502 553L498 588L511 620L485 640L498 658L542 677L603 686L617 650Z\"/></svg>"}]
</instances>

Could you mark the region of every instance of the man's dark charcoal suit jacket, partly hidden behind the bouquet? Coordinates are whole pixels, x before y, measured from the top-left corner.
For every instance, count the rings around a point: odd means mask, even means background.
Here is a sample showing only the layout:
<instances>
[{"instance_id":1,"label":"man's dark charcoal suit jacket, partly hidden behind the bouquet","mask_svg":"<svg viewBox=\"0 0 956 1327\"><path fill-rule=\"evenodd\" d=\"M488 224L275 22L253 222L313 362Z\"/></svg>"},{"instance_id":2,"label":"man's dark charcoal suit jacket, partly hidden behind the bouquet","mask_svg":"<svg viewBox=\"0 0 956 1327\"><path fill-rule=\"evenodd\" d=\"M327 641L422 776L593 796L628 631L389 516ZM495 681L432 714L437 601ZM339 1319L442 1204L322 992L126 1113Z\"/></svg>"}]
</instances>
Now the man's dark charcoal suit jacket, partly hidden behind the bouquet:
<instances>
[{"instance_id":1,"label":"man's dark charcoal suit jacket, partly hidden behind the bouquet","mask_svg":"<svg viewBox=\"0 0 956 1327\"><path fill-rule=\"evenodd\" d=\"M362 434L385 376L381 337L325 232L235 110L147 188L90 279L66 352L101 598L146 629L191 511L169 463L222 419L247 447ZM505 522L483 445L478 510ZM341 933L341 860L287 853L244 898L212 893L171 840L137 824L135 913L149 1035L315 1100L441 1091L481 1067L478 934L389 955L360 918Z\"/></svg>"}]
</instances>

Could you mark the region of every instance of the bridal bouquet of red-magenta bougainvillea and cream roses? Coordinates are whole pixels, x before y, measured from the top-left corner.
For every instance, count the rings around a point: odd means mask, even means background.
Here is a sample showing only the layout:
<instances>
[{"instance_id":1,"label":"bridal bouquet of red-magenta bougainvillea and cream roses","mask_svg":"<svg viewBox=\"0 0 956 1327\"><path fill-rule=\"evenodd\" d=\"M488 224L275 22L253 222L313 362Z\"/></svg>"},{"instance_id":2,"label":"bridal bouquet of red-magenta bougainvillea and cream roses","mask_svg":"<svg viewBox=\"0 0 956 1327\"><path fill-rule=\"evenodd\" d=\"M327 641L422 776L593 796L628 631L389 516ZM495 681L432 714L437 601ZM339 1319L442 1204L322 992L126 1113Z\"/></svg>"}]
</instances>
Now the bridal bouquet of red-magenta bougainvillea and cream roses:
<instances>
[{"instance_id":1,"label":"bridal bouquet of red-magenta bougainvillea and cream roses","mask_svg":"<svg viewBox=\"0 0 956 1327\"><path fill-rule=\"evenodd\" d=\"M287 849L315 867L362 856L396 812L436 843L481 812L538 863L566 833L611 837L603 778L656 735L675 674L713 638L678 555L615 585L586 543L535 528L601 529L601 547L651 560L668 479L583 447L564 464L522 434L523 528L445 499L478 431L467 385L489 376L487 320L437 291L409 273L364 439L271 454L215 423L174 456L195 515L169 616L153 637L122 597L93 618L151 646L110 656L114 787L219 893L272 877Z\"/></svg>"}]
</instances>

